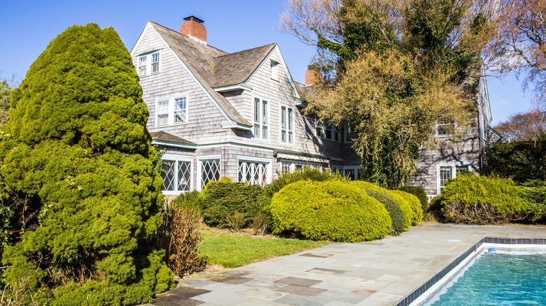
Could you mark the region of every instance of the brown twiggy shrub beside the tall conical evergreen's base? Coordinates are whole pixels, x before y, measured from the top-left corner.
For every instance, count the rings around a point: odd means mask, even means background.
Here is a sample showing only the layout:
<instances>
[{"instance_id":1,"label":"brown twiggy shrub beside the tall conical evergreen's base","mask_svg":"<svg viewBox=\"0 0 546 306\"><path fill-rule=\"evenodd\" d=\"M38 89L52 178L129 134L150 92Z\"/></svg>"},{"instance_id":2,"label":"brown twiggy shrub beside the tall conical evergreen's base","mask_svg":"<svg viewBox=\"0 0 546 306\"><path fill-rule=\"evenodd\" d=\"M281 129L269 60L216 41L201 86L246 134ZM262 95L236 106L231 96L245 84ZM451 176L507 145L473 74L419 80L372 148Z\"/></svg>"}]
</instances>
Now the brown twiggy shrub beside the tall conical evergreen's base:
<instances>
[{"instance_id":1,"label":"brown twiggy shrub beside the tall conical evergreen's base","mask_svg":"<svg viewBox=\"0 0 546 306\"><path fill-rule=\"evenodd\" d=\"M181 194L178 198L184 197ZM165 262L175 275L183 277L204 270L207 265L206 256L200 256L198 249L203 218L197 208L173 202L162 210L163 223L149 240L165 249Z\"/></svg>"}]
</instances>

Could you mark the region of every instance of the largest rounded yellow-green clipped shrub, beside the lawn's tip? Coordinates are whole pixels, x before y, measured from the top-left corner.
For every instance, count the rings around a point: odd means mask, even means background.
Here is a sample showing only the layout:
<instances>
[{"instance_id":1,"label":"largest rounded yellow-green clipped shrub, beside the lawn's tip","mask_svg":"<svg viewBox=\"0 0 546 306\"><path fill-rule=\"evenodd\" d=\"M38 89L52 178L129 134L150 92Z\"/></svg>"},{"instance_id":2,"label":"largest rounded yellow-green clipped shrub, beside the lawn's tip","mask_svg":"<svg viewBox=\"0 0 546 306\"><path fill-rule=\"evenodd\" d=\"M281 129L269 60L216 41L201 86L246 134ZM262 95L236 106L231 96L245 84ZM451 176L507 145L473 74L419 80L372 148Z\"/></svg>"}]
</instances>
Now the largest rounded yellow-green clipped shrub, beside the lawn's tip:
<instances>
[{"instance_id":1,"label":"largest rounded yellow-green clipped shrub, beside the lawn's tip","mask_svg":"<svg viewBox=\"0 0 546 306\"><path fill-rule=\"evenodd\" d=\"M312 240L374 240L392 226L384 205L344 182L288 184L273 196L269 212L272 233L295 231Z\"/></svg>"}]
</instances>

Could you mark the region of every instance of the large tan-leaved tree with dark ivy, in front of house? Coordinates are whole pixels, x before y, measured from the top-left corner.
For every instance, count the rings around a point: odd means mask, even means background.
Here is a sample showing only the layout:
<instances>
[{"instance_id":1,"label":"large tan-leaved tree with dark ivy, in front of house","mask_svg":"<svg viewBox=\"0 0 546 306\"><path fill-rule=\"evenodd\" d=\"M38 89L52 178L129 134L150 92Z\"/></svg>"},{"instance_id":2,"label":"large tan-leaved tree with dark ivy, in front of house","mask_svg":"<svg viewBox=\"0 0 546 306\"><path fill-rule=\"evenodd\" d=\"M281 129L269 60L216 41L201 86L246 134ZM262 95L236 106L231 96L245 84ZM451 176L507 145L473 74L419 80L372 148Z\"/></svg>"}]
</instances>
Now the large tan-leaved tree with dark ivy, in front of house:
<instances>
[{"instance_id":1,"label":"large tan-leaved tree with dark ivy, in front of house","mask_svg":"<svg viewBox=\"0 0 546 306\"><path fill-rule=\"evenodd\" d=\"M317 45L312 66L324 77L307 112L351 123L365 180L397 187L436 122L468 126L494 10L470 0L289 1L282 29Z\"/></svg>"}]
</instances>

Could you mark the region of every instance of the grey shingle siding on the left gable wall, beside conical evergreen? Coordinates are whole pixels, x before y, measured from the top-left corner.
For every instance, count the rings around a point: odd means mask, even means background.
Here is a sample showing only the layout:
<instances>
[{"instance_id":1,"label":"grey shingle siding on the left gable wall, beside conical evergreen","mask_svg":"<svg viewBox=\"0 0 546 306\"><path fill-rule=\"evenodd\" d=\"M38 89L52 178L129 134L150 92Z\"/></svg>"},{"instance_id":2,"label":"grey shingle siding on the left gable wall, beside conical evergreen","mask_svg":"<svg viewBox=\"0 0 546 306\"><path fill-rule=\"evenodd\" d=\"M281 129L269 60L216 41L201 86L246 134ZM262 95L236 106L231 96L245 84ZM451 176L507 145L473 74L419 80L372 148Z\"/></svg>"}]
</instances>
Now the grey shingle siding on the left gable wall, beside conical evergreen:
<instances>
[{"instance_id":1,"label":"grey shingle siding on the left gable wall, beside conical evergreen","mask_svg":"<svg viewBox=\"0 0 546 306\"><path fill-rule=\"evenodd\" d=\"M195 79L188 73L180 63L178 57L169 50L160 36L151 27L146 31L139 45L135 46L133 57L134 66L137 65L138 54L152 50L160 50L160 73L148 75L140 79L143 89L142 98L148 105L150 117L146 123L148 131L165 131L179 136L193 143L207 144L217 143L222 136L228 133L222 129L221 124L227 123L218 107L207 96L207 93L200 87ZM160 98L187 95L188 123L155 126L156 101Z\"/></svg>"}]
</instances>

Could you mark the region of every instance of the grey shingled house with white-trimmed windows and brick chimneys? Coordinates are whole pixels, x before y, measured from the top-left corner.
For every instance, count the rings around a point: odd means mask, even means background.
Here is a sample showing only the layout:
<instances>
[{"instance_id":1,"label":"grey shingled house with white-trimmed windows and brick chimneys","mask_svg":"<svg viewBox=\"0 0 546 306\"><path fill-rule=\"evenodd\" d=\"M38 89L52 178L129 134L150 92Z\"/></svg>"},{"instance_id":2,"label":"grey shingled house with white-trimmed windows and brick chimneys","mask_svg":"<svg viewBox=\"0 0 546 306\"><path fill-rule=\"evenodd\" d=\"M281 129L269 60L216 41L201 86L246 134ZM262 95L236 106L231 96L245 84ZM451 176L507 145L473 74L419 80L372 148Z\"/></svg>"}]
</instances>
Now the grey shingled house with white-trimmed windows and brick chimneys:
<instances>
[{"instance_id":1,"label":"grey shingled house with white-trimmed windows and brick chimneys","mask_svg":"<svg viewBox=\"0 0 546 306\"><path fill-rule=\"evenodd\" d=\"M305 165L358 179L360 159L351 148L350 126L304 115L302 95L313 73L306 74L306 85L294 82L276 43L227 53L209 45L203 21L190 16L179 31L148 21L131 56L150 112L146 128L152 143L165 148L164 194L201 190L223 176L265 186L277 173ZM480 99L488 110L483 87ZM490 112L482 113L480 133L491 122ZM441 184L465 166L479 172L481 137L449 153L472 152L460 159L425 152L414 184L435 194L428 185Z\"/></svg>"}]
</instances>

